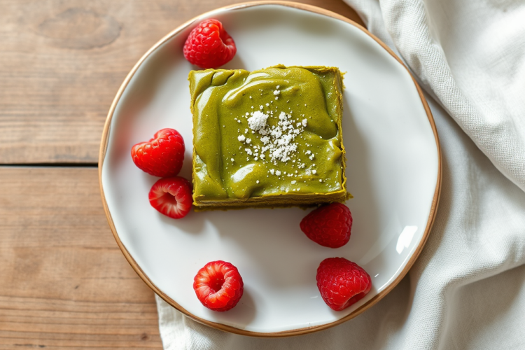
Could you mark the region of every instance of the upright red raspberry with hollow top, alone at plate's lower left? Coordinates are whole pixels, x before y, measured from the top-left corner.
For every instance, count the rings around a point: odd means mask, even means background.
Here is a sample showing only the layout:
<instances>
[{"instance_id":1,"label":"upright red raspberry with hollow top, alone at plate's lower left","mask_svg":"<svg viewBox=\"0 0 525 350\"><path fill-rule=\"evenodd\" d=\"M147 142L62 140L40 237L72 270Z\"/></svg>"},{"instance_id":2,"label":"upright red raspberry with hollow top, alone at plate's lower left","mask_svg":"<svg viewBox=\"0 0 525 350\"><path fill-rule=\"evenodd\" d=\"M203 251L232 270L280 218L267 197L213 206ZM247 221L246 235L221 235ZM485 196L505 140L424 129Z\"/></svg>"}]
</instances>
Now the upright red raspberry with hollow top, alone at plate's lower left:
<instances>
[{"instance_id":1,"label":"upright red raspberry with hollow top, alone at plate's lower left","mask_svg":"<svg viewBox=\"0 0 525 350\"><path fill-rule=\"evenodd\" d=\"M214 311L228 311L237 305L244 283L237 267L225 261L208 262L193 279L199 301Z\"/></svg>"}]
</instances>

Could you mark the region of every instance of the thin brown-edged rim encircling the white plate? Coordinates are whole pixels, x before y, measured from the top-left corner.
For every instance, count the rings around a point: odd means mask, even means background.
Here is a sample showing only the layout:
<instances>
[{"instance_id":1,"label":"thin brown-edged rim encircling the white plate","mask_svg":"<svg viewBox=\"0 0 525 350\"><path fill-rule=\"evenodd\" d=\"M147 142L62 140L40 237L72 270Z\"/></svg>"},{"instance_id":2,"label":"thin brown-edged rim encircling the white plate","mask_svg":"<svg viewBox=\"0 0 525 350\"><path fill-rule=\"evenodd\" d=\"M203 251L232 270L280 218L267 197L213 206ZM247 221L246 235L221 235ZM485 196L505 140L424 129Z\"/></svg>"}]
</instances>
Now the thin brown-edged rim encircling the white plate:
<instances>
[{"instance_id":1,"label":"thin brown-edged rim encircling the white plate","mask_svg":"<svg viewBox=\"0 0 525 350\"><path fill-rule=\"evenodd\" d=\"M353 25L354 27L357 27L361 31L365 32L368 36L370 36L374 41L379 43L382 48L384 48L392 57L394 57L406 70L407 73L409 73L410 78L412 78L412 82L414 83L416 90L419 94L419 97L421 99L421 103L423 104L423 109L426 112L426 116L428 117L428 121L430 123L430 127L432 128L434 139L436 143L437 148L437 181L434 191L434 196L432 200L432 204L430 206L430 214L428 215L428 221L426 224L425 231L423 232L423 237L421 238L421 241L419 242L419 245L414 249L414 253L412 253L412 256L407 261L407 264L405 267L401 270L400 274L386 287L384 290L381 290L381 292L377 293L374 297L372 297L370 300L368 300L365 304L358 307L358 309L351 312L351 314L348 314L344 316L343 318L339 318L337 321L333 321L330 323L325 323L323 325L314 325L311 327L306 328L297 328L293 330L284 330L280 332L253 332L244 330L241 328L236 328L231 325L224 325L222 323L216 323L212 321L208 321L204 318L200 318L198 316L195 316L191 314L189 311L181 307L175 300L173 300L171 297L166 295L162 292L155 284L148 278L148 276L142 271L141 267L137 264L137 262L134 260L134 258L130 255L130 253L127 251L125 246L123 245L122 241L120 241L120 237L118 236L117 230L115 228L115 224L113 223L113 218L111 217L111 213L109 211L108 204L106 202L106 197L104 195L104 187L102 185L102 167L104 165L104 159L106 158L106 151L108 147L108 141L109 141L109 133L111 131L111 120L113 119L113 113L115 113L116 106L118 102L120 101L120 97L122 97L122 94L127 87L127 85L130 83L130 80L134 76L134 74L139 69L139 66L146 60L149 55L153 51L155 51L160 45L167 42L169 39L171 39L176 34L179 34L180 31L183 31L190 25L192 25L195 21L199 20L200 18L205 18L211 13L216 13L217 11L230 11L230 10L238 10L242 8L249 8L254 6L266 6L266 5L275 5L275 6L284 6L288 8L296 8L299 10L305 10L310 13L316 13L320 15L325 15L330 18L334 18L335 20L341 20L343 22L346 22L350 25ZM407 66L402 62L402 60L395 55L393 50L388 47L385 43L383 43L377 36L374 36L374 34L370 33L370 31L367 31L365 27L359 25L357 22L354 22L353 20L350 20L349 18L346 18L342 15L339 15L337 13L334 13L330 10L326 10L324 8L320 8L318 6L309 5L306 3L296 3L291 1L249 1L249 2L241 2L241 3L235 3L230 6L223 6L220 8L216 8L214 10L208 11L206 13L202 13L201 15L197 15L191 20L188 20L187 22L184 22L179 27L176 27L176 29L173 29L170 31L166 36L160 39L157 43L155 43L146 53L139 59L139 61L133 66L130 73L127 74L125 80L123 81L122 85L120 85L118 92L113 99L113 102L111 103L111 107L109 109L108 115L106 117L106 122L104 123L104 130L102 132L102 141L99 148L99 162L98 162L98 173L99 173L99 188L100 188L100 194L102 197L102 205L104 207L104 212L106 214L106 219L109 223L109 228L111 229L111 232L113 233L113 237L115 238L118 247L120 248L120 251L122 251L123 255L125 256L127 262L131 265L131 267L134 269L135 272L139 275L139 277L146 283L146 285L151 288L157 295L159 295L165 302L170 304L175 309L181 311L186 316L192 318L193 320L202 323L204 325L209 325L212 328L216 328L218 330L223 330L227 332L232 332L239 335L248 335L251 337L289 337L293 335L304 335L311 332L318 332L320 330L325 330L327 328L332 328L335 325L339 325L341 323L344 323L346 321L349 321L351 318L354 318L358 316L359 314L362 314L364 311L372 307L374 304L377 304L379 300L381 300L383 297L385 297L388 293L391 292L395 286L398 285L398 283L405 277L405 275L408 273L409 269L412 268L412 265L414 265L414 262L417 260L419 255L421 254L421 251L423 250L423 246L425 246L426 241L428 240L428 235L430 233L430 229L432 228L435 216L437 213L437 207L440 200L441 195L441 183L442 183L442 153L441 153L441 147L440 147L440 140L437 135L437 129L435 127L434 118L432 116L432 113L430 111L430 107L428 106L428 103L426 102L426 99L423 95L423 91L421 90L421 87L419 87L419 84L415 80L414 76L412 76L412 73L409 71Z\"/></svg>"}]
</instances>

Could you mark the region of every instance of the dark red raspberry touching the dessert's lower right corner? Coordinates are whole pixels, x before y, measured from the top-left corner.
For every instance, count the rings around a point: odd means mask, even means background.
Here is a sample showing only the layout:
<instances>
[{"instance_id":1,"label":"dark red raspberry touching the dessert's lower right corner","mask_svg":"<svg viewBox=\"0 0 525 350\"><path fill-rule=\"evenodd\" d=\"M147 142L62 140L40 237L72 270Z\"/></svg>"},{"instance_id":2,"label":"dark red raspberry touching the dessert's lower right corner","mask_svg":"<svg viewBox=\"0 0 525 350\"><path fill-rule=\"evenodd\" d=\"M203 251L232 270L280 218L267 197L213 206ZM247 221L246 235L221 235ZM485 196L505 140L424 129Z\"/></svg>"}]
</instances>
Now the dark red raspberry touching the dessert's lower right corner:
<instances>
[{"instance_id":1,"label":"dark red raspberry touching the dessert's lower right corner","mask_svg":"<svg viewBox=\"0 0 525 350\"><path fill-rule=\"evenodd\" d=\"M305 216L300 227L302 232L317 244L339 248L350 239L352 214L350 209L341 203L323 205Z\"/></svg>"}]
</instances>

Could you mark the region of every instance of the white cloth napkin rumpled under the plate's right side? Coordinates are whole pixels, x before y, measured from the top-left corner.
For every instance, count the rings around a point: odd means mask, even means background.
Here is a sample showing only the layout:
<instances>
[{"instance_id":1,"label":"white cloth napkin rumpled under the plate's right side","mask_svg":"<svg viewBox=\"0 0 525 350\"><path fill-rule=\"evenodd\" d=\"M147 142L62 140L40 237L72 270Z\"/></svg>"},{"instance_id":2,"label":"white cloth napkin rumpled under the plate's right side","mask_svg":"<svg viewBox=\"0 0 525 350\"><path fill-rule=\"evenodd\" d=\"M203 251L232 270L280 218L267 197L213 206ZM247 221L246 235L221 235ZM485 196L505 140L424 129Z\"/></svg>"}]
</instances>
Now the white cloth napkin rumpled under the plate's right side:
<instances>
[{"instance_id":1,"label":"white cloth napkin rumpled under the plate's right side","mask_svg":"<svg viewBox=\"0 0 525 350\"><path fill-rule=\"evenodd\" d=\"M157 297L165 349L525 349L525 1L345 1L435 98L442 195L423 252L374 307L300 337L221 332Z\"/></svg>"}]
</instances>

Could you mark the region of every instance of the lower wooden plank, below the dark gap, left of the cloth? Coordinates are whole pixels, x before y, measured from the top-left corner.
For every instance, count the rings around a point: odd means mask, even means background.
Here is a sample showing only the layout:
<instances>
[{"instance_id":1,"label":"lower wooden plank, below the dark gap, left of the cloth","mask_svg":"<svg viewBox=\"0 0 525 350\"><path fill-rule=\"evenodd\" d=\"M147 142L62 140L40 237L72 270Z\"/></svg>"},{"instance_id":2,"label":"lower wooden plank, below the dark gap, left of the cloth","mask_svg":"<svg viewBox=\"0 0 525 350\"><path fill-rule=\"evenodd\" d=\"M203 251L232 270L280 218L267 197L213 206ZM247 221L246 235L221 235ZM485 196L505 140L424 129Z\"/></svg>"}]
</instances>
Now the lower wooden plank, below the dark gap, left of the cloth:
<instances>
[{"instance_id":1,"label":"lower wooden plank, below the dark gap, left of the cloth","mask_svg":"<svg viewBox=\"0 0 525 350\"><path fill-rule=\"evenodd\" d=\"M154 294L120 252L97 169L0 167L0 349L162 349Z\"/></svg>"}]
</instances>

